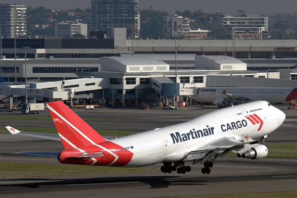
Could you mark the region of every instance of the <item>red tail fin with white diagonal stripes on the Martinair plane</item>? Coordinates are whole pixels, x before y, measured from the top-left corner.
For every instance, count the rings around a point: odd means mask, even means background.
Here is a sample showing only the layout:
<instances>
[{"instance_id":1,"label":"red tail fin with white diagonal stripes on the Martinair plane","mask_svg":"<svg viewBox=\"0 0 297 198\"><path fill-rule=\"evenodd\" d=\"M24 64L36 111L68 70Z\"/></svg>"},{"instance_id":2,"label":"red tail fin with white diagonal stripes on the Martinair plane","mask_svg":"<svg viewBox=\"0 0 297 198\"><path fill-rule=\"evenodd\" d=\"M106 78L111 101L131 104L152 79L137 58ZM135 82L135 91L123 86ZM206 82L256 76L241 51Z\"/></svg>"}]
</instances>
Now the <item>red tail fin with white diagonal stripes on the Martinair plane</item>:
<instances>
[{"instance_id":1,"label":"red tail fin with white diagonal stripes on the Martinair plane","mask_svg":"<svg viewBox=\"0 0 297 198\"><path fill-rule=\"evenodd\" d=\"M65 149L87 147L106 141L62 101L49 102L47 105Z\"/></svg>"}]
</instances>

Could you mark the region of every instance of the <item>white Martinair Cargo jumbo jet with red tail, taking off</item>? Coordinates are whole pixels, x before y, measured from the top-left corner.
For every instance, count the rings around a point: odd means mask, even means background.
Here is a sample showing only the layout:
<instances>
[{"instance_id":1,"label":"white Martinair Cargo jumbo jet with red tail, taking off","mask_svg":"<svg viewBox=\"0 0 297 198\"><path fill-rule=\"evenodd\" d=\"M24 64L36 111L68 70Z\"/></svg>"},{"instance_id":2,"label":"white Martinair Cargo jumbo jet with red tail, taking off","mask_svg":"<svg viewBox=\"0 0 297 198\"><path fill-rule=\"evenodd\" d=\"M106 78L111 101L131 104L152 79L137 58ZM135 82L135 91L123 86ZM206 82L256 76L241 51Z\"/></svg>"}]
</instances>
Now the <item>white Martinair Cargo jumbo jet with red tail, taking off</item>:
<instances>
[{"instance_id":1,"label":"white Martinair Cargo jumbo jet with red tail, taking off","mask_svg":"<svg viewBox=\"0 0 297 198\"><path fill-rule=\"evenodd\" d=\"M209 174L213 165L210 160L224 157L229 151L244 158L265 157L268 150L264 138L286 118L270 103L254 101L219 109L185 123L106 140L63 102L47 105L65 148L56 155L59 162L123 167L163 163L164 173L189 172L191 167L185 166L185 162L190 161L193 165L203 163L201 172ZM20 133L10 126L6 128L12 134Z\"/></svg>"}]
</instances>

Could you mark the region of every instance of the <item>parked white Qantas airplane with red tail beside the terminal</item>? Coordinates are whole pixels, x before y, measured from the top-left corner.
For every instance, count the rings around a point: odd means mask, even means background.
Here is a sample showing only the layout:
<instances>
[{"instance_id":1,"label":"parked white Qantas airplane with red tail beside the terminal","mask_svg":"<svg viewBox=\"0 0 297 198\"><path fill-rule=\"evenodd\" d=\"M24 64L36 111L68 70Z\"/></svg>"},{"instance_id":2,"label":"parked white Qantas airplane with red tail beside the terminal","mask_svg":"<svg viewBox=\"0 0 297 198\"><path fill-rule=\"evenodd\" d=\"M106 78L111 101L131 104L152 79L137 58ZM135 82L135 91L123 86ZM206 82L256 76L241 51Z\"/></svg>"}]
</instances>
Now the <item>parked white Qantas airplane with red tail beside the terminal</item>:
<instances>
[{"instance_id":1,"label":"parked white Qantas airplane with red tail beside the terminal","mask_svg":"<svg viewBox=\"0 0 297 198\"><path fill-rule=\"evenodd\" d=\"M191 98L200 101L213 101L217 106L229 103L245 103L256 100L284 102L297 99L297 88L265 87L203 87L198 88L197 96Z\"/></svg>"}]
</instances>

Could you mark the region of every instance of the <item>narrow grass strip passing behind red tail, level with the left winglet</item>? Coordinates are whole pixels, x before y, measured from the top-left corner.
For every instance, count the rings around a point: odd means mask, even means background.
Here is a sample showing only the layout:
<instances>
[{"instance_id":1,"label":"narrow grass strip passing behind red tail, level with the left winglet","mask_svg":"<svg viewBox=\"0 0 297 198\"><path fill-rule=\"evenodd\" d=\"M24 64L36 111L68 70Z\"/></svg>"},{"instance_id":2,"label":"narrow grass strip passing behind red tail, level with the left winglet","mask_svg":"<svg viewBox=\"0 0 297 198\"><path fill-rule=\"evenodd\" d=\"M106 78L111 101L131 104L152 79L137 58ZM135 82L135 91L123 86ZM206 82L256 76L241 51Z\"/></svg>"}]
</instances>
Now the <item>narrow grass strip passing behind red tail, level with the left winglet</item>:
<instances>
[{"instance_id":1,"label":"narrow grass strip passing behind red tail, level with the left winglet","mask_svg":"<svg viewBox=\"0 0 297 198\"><path fill-rule=\"evenodd\" d=\"M55 128L27 128L27 127L17 127L16 128L19 131L25 131L25 132L33 132L33 133L45 133L45 134L58 134L57 130ZM99 133L102 136L128 136L140 132L135 131L104 131L104 130L97 130L97 133ZM7 133L9 134L8 130L5 127L0 127L0 133Z\"/></svg>"}]
</instances>

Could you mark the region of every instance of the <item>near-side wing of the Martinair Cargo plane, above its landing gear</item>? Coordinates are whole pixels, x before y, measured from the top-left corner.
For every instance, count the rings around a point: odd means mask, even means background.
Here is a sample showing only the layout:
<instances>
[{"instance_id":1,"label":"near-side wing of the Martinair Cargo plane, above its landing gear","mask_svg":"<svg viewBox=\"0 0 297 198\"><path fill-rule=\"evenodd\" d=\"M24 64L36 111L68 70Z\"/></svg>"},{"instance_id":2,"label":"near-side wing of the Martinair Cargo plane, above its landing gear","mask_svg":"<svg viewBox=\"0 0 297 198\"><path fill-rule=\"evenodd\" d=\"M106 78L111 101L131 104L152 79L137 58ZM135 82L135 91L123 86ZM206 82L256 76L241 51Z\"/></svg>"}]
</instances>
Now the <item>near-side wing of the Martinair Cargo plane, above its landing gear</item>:
<instances>
[{"instance_id":1,"label":"near-side wing of the Martinair Cargo plane, above its landing gear","mask_svg":"<svg viewBox=\"0 0 297 198\"><path fill-rule=\"evenodd\" d=\"M196 150L193 150L190 153L188 153L184 160L187 161L194 159L193 164L196 164L199 161L200 163L204 163L214 154L215 158L220 156L221 153L223 153L221 157L224 157L233 148L240 148L246 144L257 143L257 141L251 139L247 135L242 136L244 140L243 142L235 140L234 137L223 137L213 142L210 142L207 145L203 145L197 148Z\"/></svg>"}]
</instances>

